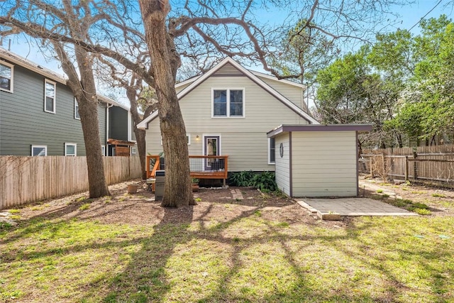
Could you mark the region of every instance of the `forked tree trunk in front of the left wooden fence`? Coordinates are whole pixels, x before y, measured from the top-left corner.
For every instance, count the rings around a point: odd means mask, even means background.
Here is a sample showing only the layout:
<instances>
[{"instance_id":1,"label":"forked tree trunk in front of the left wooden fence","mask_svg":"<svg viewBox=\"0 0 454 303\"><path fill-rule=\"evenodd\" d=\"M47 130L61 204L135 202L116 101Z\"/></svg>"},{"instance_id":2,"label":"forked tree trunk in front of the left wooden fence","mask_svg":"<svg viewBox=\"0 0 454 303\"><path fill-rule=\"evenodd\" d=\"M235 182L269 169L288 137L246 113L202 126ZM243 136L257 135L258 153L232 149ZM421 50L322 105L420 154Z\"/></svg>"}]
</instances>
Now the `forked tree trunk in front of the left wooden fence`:
<instances>
[{"instance_id":1,"label":"forked tree trunk in front of the left wooden fence","mask_svg":"<svg viewBox=\"0 0 454 303\"><path fill-rule=\"evenodd\" d=\"M68 86L79 104L80 122L84 133L85 153L87 155L88 182L90 198L109 196L104 162L99 137L98 99L94 84L92 61L89 54L74 45L80 80L63 46L54 42L57 55L62 62L62 69L68 76Z\"/></svg>"}]
</instances>

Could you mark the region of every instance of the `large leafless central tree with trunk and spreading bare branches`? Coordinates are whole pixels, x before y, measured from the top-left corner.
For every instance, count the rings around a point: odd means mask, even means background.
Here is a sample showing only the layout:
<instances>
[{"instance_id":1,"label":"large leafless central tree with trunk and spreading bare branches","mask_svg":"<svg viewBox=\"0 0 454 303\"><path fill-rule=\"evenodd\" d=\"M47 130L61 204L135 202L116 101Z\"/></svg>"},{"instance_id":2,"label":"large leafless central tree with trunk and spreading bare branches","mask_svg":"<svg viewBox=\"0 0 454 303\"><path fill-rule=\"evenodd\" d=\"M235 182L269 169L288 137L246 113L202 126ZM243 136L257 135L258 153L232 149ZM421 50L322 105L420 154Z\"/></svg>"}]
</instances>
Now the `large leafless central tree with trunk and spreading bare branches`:
<instances>
[{"instance_id":1,"label":"large leafless central tree with trunk and spreading bare branches","mask_svg":"<svg viewBox=\"0 0 454 303\"><path fill-rule=\"evenodd\" d=\"M16 0L16 11L23 3L28 2L30 1ZM57 4L54 1L31 2L43 4L42 10L45 14L57 16ZM36 18L37 15L27 13L26 9L21 18L14 12L10 13L8 8L1 11L0 26L4 34L11 33L13 29L39 38L71 43L90 53L111 57L155 89L159 100L158 110L167 168L162 205L180 206L194 204L189 187L186 131L175 92L177 70L182 62L181 55L187 58L206 57L207 62L227 55L236 57L243 64L261 65L264 70L281 79L299 77L280 75L279 71L270 65L272 58L278 56L278 45L282 36L286 35L297 21L307 21L301 29L321 31L334 40L365 40L375 33L377 24L386 22L389 18L389 4L395 2L313 0L301 4L300 1L289 3L281 0L187 0L176 1L172 9L170 1L138 0L142 23L138 22L137 14L131 13L138 9L135 1L86 0L81 1L81 4L73 1L73 10L78 11L83 5L99 9L101 4L109 5L109 9L116 6L116 10L109 12L84 11L93 13L94 22L92 31L88 33L89 37L72 35L71 31L55 31L54 23L43 23L43 20L47 21L48 18ZM57 7L56 10L60 9ZM260 14L272 12L276 16L278 13L285 13L288 17L284 25L264 23L254 15L258 10ZM58 20L58 26L62 26L62 22ZM143 40L148 46L151 59L150 66L146 67L136 64L122 51L122 45L140 44Z\"/></svg>"}]
</instances>

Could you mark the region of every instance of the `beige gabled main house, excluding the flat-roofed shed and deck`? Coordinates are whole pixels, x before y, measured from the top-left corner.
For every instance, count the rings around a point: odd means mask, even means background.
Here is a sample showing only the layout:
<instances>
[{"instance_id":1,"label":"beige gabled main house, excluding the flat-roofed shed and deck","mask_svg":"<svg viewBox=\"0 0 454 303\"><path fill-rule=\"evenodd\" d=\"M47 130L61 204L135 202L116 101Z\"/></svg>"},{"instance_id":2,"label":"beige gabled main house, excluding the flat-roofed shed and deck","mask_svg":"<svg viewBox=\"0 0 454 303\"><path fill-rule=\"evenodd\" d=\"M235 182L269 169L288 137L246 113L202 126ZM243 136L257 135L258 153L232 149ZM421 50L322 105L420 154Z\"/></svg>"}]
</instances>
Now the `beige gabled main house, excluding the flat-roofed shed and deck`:
<instances>
[{"instance_id":1,"label":"beige gabled main house, excluding the flat-roofed shed and deck","mask_svg":"<svg viewBox=\"0 0 454 303\"><path fill-rule=\"evenodd\" d=\"M307 113L304 85L251 72L227 57L176 85L189 155L228 155L228 171L275 170L275 126L318 122ZM138 124L147 153L162 152L157 111Z\"/></svg>"}]
</instances>

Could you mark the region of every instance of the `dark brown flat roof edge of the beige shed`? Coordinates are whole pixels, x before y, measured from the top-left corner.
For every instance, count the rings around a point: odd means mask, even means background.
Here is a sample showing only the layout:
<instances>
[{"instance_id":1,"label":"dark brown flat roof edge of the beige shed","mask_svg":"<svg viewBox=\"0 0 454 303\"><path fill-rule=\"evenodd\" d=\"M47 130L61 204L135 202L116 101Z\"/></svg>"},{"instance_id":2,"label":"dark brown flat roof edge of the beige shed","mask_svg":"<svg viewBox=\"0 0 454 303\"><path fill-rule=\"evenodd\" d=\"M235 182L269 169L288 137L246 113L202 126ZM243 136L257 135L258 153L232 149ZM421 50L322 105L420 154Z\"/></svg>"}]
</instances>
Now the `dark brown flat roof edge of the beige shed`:
<instances>
[{"instance_id":1,"label":"dark brown flat roof edge of the beige shed","mask_svg":"<svg viewBox=\"0 0 454 303\"><path fill-rule=\"evenodd\" d=\"M280 133L289 133L292 131L372 131L371 124L298 124L298 125L281 125L272 131L267 132L267 137L272 138Z\"/></svg>"}]
</instances>

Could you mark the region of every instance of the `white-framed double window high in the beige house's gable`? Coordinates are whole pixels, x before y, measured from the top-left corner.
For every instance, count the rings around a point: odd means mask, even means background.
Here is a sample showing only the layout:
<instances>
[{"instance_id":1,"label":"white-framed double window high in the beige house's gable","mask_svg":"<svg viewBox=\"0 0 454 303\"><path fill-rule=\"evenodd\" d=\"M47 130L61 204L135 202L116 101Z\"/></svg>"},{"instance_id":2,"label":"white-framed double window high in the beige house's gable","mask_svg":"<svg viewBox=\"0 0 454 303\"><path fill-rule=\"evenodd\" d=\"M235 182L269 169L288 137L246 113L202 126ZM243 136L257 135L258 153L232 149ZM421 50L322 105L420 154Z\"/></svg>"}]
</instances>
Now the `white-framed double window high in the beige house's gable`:
<instances>
[{"instance_id":1,"label":"white-framed double window high in the beige house's gable","mask_svg":"<svg viewBox=\"0 0 454 303\"><path fill-rule=\"evenodd\" d=\"M213 89L214 117L243 117L244 89Z\"/></svg>"}]
</instances>

